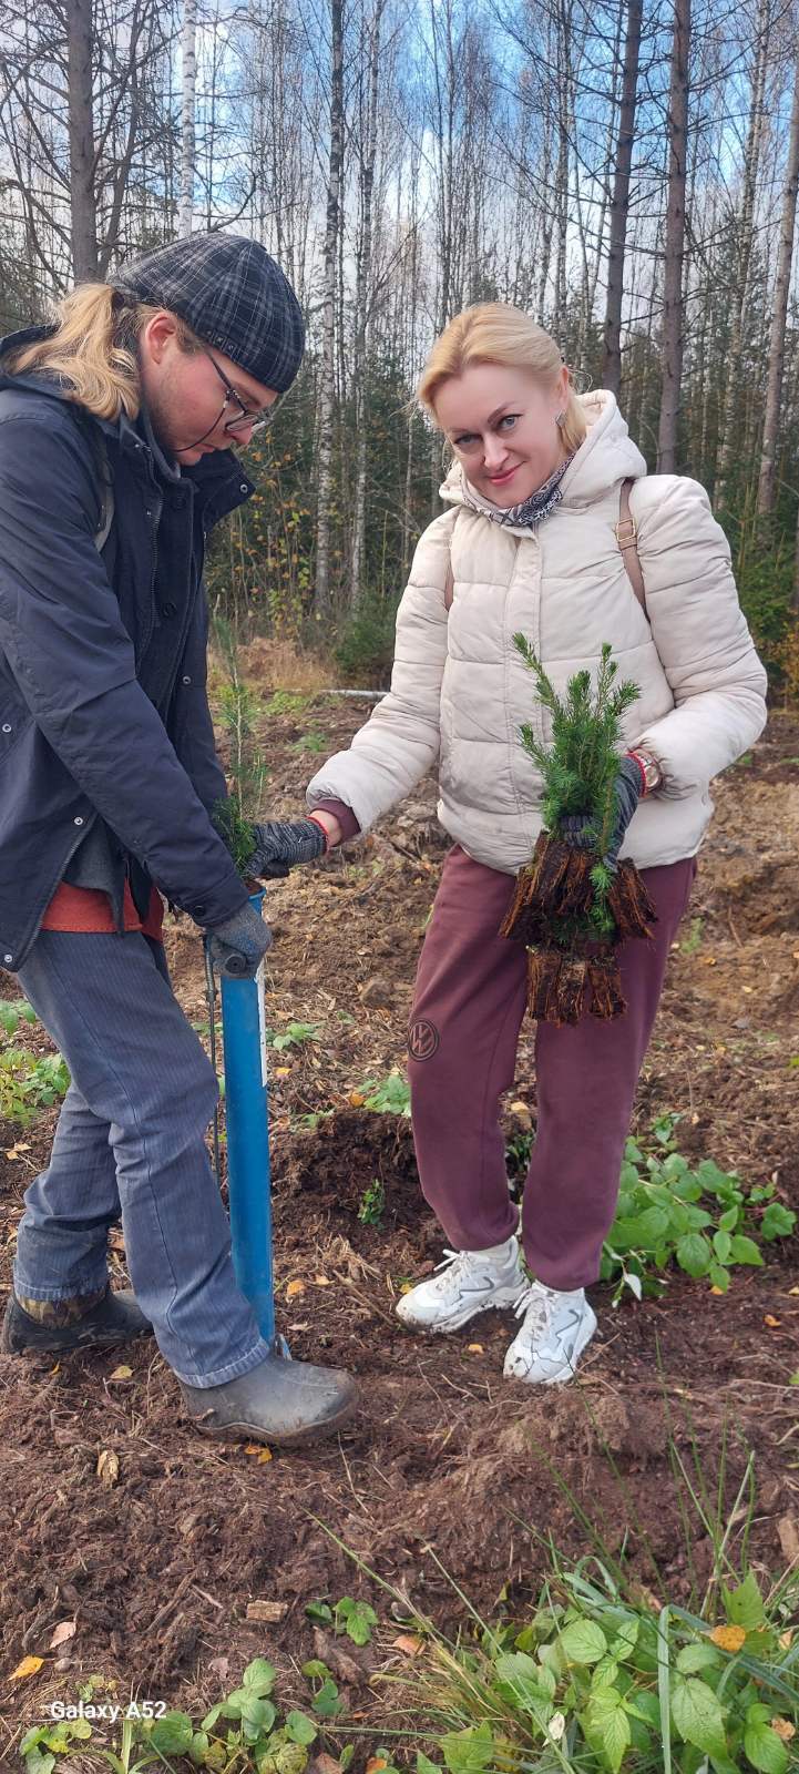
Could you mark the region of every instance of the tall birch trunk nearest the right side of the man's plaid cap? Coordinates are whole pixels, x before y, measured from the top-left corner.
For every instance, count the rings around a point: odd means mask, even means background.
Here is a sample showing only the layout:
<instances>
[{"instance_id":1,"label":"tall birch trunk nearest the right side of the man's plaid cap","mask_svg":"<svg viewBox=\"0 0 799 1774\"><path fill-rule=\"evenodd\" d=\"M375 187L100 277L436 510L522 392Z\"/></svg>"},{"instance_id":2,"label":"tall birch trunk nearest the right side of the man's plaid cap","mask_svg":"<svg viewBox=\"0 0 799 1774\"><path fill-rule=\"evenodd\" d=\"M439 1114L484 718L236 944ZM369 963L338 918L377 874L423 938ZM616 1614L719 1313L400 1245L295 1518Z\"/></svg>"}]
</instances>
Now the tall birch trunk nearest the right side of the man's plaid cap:
<instances>
[{"instance_id":1,"label":"tall birch trunk nearest the right side of the man's plaid cap","mask_svg":"<svg viewBox=\"0 0 799 1774\"><path fill-rule=\"evenodd\" d=\"M322 364L319 381L315 607L330 612L330 504L333 488L335 310L344 163L344 4L330 4L330 160L324 225Z\"/></svg>"}]
</instances>

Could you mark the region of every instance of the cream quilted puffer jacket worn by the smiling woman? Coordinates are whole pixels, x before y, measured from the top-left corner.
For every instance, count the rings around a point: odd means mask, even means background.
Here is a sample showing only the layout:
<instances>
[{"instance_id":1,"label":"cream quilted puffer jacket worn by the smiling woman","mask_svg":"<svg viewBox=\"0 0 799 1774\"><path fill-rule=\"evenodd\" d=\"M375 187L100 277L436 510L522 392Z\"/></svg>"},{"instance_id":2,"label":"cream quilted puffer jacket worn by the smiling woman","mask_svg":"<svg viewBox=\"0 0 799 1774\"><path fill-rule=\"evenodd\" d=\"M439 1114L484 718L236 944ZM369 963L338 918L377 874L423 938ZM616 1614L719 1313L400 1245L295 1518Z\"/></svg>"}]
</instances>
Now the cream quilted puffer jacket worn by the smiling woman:
<instances>
[{"instance_id":1,"label":"cream quilted puffer jacket worn by the smiling woman","mask_svg":"<svg viewBox=\"0 0 799 1774\"><path fill-rule=\"evenodd\" d=\"M462 468L450 470L441 488L450 509L420 538L399 607L392 688L349 750L317 772L312 807L342 800L367 830L439 756L441 825L477 862L516 873L539 836L542 793L519 727L530 722L549 742L551 724L512 637L528 637L556 690L583 667L595 674L609 640L620 678L641 692L625 743L645 745L664 773L640 804L622 857L652 867L694 855L712 777L765 726L765 672L705 490L647 474L613 394L583 396L583 408L588 435L560 484L562 504L537 530L466 506ZM629 475L647 614L615 538Z\"/></svg>"}]
</instances>

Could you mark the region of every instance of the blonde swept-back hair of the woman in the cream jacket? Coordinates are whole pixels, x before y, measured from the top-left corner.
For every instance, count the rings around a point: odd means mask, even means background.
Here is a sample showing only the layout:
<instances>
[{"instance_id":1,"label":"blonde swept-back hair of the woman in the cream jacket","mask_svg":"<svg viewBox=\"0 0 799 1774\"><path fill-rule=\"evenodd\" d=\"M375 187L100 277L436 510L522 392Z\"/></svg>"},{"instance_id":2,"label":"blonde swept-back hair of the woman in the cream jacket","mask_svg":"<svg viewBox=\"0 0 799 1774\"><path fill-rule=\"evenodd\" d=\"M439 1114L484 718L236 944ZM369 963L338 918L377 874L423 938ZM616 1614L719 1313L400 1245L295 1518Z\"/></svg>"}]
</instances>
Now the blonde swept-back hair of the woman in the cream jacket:
<instances>
[{"instance_id":1,"label":"blonde swept-back hair of the woman in the cream jacket","mask_svg":"<svg viewBox=\"0 0 799 1774\"><path fill-rule=\"evenodd\" d=\"M523 309L507 302L478 302L473 309L455 314L432 346L416 397L436 419L436 396L450 376L461 376L469 364L503 364L507 369L528 369L547 389L555 387L563 367L555 339L537 326ZM585 440L583 408L569 385L565 417L560 422L563 445L572 454Z\"/></svg>"}]
</instances>

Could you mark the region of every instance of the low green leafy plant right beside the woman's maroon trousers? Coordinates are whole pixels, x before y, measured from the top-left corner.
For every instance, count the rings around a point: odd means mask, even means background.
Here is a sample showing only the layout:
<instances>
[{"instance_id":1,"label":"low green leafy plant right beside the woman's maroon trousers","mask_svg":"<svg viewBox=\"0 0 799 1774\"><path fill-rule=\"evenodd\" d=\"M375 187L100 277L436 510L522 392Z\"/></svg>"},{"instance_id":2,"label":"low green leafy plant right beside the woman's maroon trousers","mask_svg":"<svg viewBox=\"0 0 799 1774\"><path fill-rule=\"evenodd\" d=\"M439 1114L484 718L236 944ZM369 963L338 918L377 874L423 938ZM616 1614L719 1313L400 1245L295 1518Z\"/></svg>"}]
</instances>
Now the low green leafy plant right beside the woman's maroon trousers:
<instances>
[{"instance_id":1,"label":"low green leafy plant right beside the woman's maroon trousers","mask_svg":"<svg viewBox=\"0 0 799 1774\"><path fill-rule=\"evenodd\" d=\"M746 1189L735 1171L705 1158L691 1169L673 1142L677 1116L654 1125L657 1150L629 1139L622 1164L617 1217L602 1247L601 1279L613 1281L615 1304L624 1288L636 1299L659 1293L675 1261L687 1276L707 1279L719 1293L730 1270L764 1263L760 1242L794 1231L795 1213L774 1201L774 1183Z\"/></svg>"}]
</instances>

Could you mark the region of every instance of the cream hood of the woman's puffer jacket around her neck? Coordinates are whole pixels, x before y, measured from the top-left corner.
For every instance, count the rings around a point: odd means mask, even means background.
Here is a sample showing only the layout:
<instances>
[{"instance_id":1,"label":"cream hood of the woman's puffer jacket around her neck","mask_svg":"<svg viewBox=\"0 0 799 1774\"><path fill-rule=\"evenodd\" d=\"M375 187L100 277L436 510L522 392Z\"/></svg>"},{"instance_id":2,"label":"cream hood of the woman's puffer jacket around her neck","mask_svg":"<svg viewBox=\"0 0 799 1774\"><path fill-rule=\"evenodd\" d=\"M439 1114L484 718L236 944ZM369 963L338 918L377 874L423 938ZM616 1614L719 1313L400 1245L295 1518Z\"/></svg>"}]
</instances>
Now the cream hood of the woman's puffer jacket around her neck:
<instances>
[{"instance_id":1,"label":"cream hood of the woman's puffer jacket around her neck","mask_svg":"<svg viewBox=\"0 0 799 1774\"><path fill-rule=\"evenodd\" d=\"M617 397L608 389L597 389L595 394L581 394L579 404L588 433L560 483L560 504L576 511L583 511L620 481L638 481L647 474L647 463L638 444L632 444ZM439 488L439 497L446 506L469 506L471 509L477 506L487 516L501 509L475 491L459 461L452 465ZM530 529L521 523L507 523L503 529L510 536L530 536Z\"/></svg>"}]
</instances>

